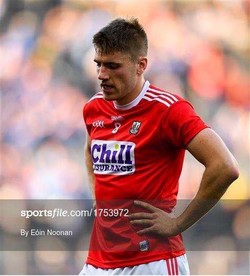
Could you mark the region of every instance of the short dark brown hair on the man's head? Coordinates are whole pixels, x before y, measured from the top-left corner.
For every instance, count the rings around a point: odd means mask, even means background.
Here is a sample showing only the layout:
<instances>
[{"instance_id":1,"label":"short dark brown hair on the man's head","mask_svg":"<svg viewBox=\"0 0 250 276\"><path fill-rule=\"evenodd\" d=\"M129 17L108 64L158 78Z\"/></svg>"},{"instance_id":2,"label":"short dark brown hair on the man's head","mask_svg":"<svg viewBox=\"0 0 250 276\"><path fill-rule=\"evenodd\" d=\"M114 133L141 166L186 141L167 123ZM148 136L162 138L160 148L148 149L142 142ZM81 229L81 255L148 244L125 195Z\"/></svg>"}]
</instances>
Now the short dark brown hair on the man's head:
<instances>
[{"instance_id":1,"label":"short dark brown hair on the man's head","mask_svg":"<svg viewBox=\"0 0 250 276\"><path fill-rule=\"evenodd\" d=\"M101 55L128 53L132 60L148 54L148 38L137 18L116 18L93 36L93 44Z\"/></svg>"}]
</instances>

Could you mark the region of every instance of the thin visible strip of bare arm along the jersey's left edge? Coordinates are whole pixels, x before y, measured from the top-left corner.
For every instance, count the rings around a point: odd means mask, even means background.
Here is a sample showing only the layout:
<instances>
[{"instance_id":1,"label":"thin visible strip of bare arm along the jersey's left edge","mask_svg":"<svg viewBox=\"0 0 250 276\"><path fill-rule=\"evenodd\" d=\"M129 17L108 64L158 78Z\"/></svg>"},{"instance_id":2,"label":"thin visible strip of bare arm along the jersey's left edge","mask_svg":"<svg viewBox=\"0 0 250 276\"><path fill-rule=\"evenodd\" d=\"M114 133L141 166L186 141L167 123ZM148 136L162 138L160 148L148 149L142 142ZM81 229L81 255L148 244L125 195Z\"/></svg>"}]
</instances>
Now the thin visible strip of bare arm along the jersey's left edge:
<instances>
[{"instance_id":1,"label":"thin visible strip of bare arm along the jersey's left edge","mask_svg":"<svg viewBox=\"0 0 250 276\"><path fill-rule=\"evenodd\" d=\"M95 174L93 170L93 160L91 156L91 142L90 136L86 131L86 144L85 144L85 162L87 167L87 174L89 180L90 192L92 194L92 200L94 208L96 206L96 195L95 195Z\"/></svg>"}]
</instances>

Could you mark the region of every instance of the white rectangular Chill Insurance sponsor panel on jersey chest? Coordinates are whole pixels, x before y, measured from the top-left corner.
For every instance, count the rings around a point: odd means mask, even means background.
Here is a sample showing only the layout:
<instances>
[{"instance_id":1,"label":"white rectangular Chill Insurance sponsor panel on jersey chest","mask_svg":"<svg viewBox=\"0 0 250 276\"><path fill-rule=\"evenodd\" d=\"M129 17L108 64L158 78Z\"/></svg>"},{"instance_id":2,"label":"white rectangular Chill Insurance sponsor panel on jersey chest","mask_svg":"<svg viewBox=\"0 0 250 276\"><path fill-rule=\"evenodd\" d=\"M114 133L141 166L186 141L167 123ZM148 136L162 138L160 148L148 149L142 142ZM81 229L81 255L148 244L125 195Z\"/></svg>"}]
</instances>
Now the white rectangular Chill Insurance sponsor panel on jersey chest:
<instances>
[{"instance_id":1,"label":"white rectangular Chill Insurance sponsor panel on jersey chest","mask_svg":"<svg viewBox=\"0 0 250 276\"><path fill-rule=\"evenodd\" d=\"M132 142L92 140L91 155L94 172L99 174L133 174L134 147Z\"/></svg>"}]
</instances>

